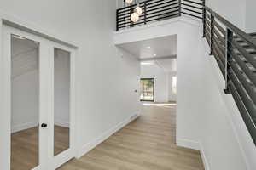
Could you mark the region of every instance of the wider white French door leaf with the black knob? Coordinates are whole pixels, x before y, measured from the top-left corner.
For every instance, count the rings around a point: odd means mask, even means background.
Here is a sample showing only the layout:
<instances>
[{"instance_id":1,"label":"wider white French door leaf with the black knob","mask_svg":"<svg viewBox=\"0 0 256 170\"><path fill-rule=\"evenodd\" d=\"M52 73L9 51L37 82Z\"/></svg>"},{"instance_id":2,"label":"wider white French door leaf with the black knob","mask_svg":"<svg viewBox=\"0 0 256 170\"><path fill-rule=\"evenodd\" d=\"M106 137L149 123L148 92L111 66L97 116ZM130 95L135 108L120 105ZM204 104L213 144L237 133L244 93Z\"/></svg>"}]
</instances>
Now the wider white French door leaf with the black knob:
<instances>
[{"instance_id":1,"label":"wider white French door leaf with the black knob","mask_svg":"<svg viewBox=\"0 0 256 170\"><path fill-rule=\"evenodd\" d=\"M6 169L48 168L49 115L53 114L53 61L49 43L15 28L3 27L6 79Z\"/></svg>"}]
</instances>

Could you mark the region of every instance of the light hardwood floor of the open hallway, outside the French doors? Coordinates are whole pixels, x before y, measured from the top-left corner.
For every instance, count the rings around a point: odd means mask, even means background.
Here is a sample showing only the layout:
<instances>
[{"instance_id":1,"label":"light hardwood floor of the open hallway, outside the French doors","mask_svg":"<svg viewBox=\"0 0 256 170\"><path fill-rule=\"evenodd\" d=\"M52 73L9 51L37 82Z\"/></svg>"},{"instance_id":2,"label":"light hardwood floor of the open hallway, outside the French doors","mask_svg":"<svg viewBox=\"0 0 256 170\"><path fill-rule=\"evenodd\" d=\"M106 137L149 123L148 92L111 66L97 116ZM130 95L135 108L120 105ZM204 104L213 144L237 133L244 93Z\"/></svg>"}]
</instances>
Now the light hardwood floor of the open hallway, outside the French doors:
<instances>
[{"instance_id":1,"label":"light hardwood floor of the open hallway, outside the French doors","mask_svg":"<svg viewBox=\"0 0 256 170\"><path fill-rule=\"evenodd\" d=\"M59 170L203 170L199 151L177 147L176 105L143 105L142 116Z\"/></svg>"}]
</instances>

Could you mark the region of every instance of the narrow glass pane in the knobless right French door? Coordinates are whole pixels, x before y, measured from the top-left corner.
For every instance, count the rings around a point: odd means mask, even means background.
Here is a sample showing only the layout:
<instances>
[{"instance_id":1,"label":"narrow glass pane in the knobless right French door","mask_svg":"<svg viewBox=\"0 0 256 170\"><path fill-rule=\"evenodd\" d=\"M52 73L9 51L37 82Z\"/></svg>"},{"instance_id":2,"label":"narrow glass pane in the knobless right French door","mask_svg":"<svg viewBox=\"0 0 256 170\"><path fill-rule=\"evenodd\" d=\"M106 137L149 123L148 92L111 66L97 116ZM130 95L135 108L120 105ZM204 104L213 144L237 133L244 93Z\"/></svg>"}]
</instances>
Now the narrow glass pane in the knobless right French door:
<instances>
[{"instance_id":1,"label":"narrow glass pane in the knobless right French door","mask_svg":"<svg viewBox=\"0 0 256 170\"><path fill-rule=\"evenodd\" d=\"M70 143L70 53L55 48L55 126L54 155L69 148Z\"/></svg>"}]
</instances>

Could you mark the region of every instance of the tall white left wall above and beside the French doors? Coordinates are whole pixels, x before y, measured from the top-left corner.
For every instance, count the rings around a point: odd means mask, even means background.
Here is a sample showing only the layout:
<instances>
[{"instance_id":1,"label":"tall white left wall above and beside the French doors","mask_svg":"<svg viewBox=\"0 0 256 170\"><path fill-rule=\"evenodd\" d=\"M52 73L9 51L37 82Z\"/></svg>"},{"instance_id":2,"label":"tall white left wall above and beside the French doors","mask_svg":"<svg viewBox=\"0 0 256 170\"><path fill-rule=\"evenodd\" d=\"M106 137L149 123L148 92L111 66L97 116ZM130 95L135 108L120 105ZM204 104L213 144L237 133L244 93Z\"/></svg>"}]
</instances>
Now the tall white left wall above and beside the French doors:
<instances>
[{"instance_id":1,"label":"tall white left wall above and beside the French doors","mask_svg":"<svg viewBox=\"0 0 256 170\"><path fill-rule=\"evenodd\" d=\"M138 113L135 90L140 65L113 44L115 1L0 0L0 4L0 11L79 46L75 60L79 156Z\"/></svg>"}]
</instances>

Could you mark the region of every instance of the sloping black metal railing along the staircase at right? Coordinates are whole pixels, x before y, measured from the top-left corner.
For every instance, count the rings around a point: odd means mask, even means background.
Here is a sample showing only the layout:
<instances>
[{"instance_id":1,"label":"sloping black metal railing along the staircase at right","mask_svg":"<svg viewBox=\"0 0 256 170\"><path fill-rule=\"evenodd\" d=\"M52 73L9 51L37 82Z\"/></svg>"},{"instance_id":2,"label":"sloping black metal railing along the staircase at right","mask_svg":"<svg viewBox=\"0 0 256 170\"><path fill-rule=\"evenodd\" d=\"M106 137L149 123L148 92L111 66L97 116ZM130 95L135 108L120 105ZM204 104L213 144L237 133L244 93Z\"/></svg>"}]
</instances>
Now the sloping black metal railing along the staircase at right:
<instances>
[{"instance_id":1,"label":"sloping black metal railing along the staircase at right","mask_svg":"<svg viewBox=\"0 0 256 170\"><path fill-rule=\"evenodd\" d=\"M204 37L224 76L224 92L232 94L256 144L256 35L205 8ZM255 37L255 38L254 38Z\"/></svg>"}]
</instances>

